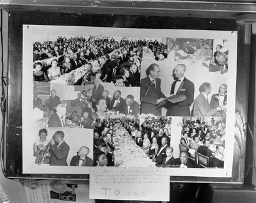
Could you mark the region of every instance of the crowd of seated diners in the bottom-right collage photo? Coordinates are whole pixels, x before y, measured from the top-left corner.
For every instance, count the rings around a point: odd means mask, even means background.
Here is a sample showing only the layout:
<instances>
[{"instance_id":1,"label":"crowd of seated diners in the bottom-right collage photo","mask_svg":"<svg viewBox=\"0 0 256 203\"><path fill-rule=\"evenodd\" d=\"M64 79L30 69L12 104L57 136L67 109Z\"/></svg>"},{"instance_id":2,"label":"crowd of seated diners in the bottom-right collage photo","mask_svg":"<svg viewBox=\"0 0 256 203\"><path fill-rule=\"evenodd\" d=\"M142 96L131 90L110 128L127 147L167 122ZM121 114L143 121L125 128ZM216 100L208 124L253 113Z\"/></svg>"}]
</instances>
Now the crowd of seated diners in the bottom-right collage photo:
<instances>
[{"instance_id":1,"label":"crowd of seated diners in the bottom-right collage photo","mask_svg":"<svg viewBox=\"0 0 256 203\"><path fill-rule=\"evenodd\" d=\"M183 121L180 151L188 151L195 167L223 168L225 160L225 122Z\"/></svg>"}]
</instances>

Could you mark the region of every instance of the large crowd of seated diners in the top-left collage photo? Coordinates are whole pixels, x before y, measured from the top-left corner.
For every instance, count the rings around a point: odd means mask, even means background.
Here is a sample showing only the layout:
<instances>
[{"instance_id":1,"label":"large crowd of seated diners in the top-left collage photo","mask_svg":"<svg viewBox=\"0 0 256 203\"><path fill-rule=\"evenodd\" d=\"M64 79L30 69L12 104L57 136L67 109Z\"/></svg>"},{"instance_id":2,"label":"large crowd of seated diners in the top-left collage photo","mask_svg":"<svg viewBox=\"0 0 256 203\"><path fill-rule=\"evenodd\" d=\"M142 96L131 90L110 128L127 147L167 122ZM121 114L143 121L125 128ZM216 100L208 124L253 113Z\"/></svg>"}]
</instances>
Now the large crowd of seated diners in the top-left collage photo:
<instances>
[{"instance_id":1,"label":"large crowd of seated diners in the top-left collage photo","mask_svg":"<svg viewBox=\"0 0 256 203\"><path fill-rule=\"evenodd\" d=\"M151 49L157 60L159 54L167 57L166 46L156 40L115 41L113 37L86 40L83 36L70 39L58 36L56 41L36 41L33 44L33 79L48 82L90 64L90 76L98 77L103 82L112 82L116 75L120 75L124 79L123 86L140 86L143 47ZM129 74L125 75L125 67ZM75 81L67 81L67 84L81 85L75 84Z\"/></svg>"}]
</instances>

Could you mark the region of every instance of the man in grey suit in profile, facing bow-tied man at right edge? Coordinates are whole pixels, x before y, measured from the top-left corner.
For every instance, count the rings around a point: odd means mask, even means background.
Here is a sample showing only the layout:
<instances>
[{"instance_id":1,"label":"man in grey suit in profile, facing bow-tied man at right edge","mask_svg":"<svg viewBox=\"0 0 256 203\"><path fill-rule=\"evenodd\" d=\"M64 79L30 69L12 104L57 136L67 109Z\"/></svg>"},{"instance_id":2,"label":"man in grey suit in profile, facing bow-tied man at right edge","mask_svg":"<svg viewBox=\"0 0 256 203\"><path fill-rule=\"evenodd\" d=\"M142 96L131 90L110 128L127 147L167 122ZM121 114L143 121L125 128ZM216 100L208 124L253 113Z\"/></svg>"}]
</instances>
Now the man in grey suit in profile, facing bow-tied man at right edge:
<instances>
[{"instance_id":1,"label":"man in grey suit in profile, facing bow-tied man at right edge","mask_svg":"<svg viewBox=\"0 0 256 203\"><path fill-rule=\"evenodd\" d=\"M194 116L195 117L209 117L217 114L218 111L221 111L221 107L218 106L215 109L211 109L208 95L212 91L211 84L204 82L199 87L200 94L196 97L194 102Z\"/></svg>"}]
</instances>

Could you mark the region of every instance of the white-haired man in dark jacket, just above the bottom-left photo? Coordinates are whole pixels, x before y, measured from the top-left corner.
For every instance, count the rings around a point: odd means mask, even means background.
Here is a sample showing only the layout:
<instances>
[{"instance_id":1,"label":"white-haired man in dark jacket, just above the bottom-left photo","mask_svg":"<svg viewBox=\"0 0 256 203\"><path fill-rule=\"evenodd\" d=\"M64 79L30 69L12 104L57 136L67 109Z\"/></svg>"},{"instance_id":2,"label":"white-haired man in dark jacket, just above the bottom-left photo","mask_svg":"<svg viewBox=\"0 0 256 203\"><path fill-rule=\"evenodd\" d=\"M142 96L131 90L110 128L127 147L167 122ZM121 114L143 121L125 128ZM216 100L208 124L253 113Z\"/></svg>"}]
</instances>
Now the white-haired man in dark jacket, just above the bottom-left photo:
<instances>
[{"instance_id":1,"label":"white-haired man in dark jacket, just above the bottom-left photo","mask_svg":"<svg viewBox=\"0 0 256 203\"><path fill-rule=\"evenodd\" d=\"M49 119L49 127L65 127L65 123L63 121L63 117L67 113L67 108L63 104L59 104L56 107L56 113L52 114Z\"/></svg>"}]
</instances>

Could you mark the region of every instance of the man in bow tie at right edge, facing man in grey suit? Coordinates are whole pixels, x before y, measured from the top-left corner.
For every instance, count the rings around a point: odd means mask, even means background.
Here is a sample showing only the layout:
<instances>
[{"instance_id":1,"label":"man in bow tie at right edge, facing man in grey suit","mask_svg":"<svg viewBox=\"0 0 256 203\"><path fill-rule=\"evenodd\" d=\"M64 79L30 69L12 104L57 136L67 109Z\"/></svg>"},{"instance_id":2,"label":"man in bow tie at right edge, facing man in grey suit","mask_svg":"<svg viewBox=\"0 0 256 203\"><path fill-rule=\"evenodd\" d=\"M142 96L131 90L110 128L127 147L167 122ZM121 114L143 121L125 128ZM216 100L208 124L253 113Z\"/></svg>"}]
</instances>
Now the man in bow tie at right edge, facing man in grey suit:
<instances>
[{"instance_id":1,"label":"man in bow tie at right edge, facing man in grey suit","mask_svg":"<svg viewBox=\"0 0 256 203\"><path fill-rule=\"evenodd\" d=\"M212 94L211 102L210 102L210 108L211 109L216 109L217 107L225 107L227 105L227 85L222 84L219 89L218 94ZM226 112L225 110L221 110L217 112L215 117L226 117Z\"/></svg>"}]
</instances>

